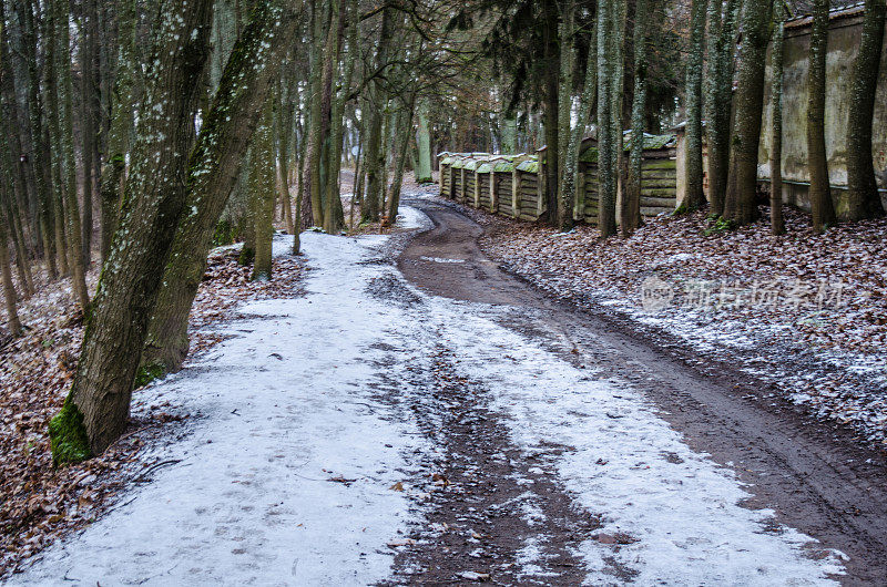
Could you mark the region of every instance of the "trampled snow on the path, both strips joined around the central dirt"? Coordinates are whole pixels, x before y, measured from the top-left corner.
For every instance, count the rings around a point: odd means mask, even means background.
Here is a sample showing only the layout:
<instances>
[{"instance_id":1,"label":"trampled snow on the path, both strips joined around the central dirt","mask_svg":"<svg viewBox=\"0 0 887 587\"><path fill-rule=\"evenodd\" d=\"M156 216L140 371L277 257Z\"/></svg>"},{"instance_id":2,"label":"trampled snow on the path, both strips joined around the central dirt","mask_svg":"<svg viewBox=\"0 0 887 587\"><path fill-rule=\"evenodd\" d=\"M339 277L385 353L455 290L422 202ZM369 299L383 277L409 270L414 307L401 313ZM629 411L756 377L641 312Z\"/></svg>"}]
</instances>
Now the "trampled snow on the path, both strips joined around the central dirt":
<instances>
[{"instance_id":1,"label":"trampled snow on the path, both strips joined around the central dirt","mask_svg":"<svg viewBox=\"0 0 887 587\"><path fill-rule=\"evenodd\" d=\"M386 262L386 237L307 233L303 246L304 298L242 307L248 318L222 326L234 338L143 392L147 405L200 414L185 440L145 455L176 462L11 583L386 580L424 525L419 480L440 447L415 415L431 390L410 374L430 371L439 349L501 413L508 442L541 455L601 533L629 538L577 539L589 584L619 583L614 566L639 585L817 585L840 573L836 554L741 507L735 475L691 451L628 381L503 326L509 307L416 290ZM570 450L548 454L554 444ZM528 581L557 583L542 496L518 482L539 534L514 560Z\"/></svg>"}]
</instances>

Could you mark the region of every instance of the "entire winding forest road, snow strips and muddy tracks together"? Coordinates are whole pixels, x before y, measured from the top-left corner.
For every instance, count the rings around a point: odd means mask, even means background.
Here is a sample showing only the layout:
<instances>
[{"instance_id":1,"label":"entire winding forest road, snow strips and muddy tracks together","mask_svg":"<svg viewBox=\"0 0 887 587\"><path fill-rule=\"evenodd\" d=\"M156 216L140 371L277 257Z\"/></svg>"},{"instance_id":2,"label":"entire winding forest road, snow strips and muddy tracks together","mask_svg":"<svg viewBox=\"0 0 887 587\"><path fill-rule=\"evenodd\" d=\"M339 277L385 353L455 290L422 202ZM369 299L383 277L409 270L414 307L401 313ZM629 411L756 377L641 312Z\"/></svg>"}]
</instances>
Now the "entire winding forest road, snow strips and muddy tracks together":
<instances>
[{"instance_id":1,"label":"entire winding forest road, snow strips and muddy tracks together","mask_svg":"<svg viewBox=\"0 0 887 587\"><path fill-rule=\"evenodd\" d=\"M142 482L8 580L887 576L881 453L503 272L469 213L412 192L398 230L305 233L281 258L303 280L203 327L218 342L137 393L179 420L133 455Z\"/></svg>"}]
</instances>

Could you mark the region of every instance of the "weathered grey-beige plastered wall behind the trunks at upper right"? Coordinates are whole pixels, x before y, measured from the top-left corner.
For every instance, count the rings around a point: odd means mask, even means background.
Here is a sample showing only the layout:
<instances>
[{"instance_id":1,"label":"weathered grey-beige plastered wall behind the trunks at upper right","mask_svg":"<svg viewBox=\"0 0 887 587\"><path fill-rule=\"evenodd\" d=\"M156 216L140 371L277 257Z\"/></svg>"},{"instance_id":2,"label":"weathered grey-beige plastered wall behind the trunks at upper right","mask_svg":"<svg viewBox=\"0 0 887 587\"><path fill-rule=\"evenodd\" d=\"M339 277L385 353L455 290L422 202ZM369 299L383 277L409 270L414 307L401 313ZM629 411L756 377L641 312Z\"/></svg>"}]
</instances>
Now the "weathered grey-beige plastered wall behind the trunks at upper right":
<instances>
[{"instance_id":1,"label":"weathered grey-beige plastered wall behind the trunks at upper right","mask_svg":"<svg viewBox=\"0 0 887 587\"><path fill-rule=\"evenodd\" d=\"M847 124L850 104L850 78L853 64L859 49L863 31L863 17L835 19L828 31L828 53L826 58L826 114L825 140L828 155L830 183L836 187L847 185ZM887 37L881 52L878 78L877 103L873 125L875 169L878 185L887 187ZM786 182L807 184L807 69L809 52L809 27L786 29L785 78L783 93L783 178ZM767 81L771 86L771 56L767 54ZM758 177L769 181L771 134L773 102L769 91L764 97L764 119L761 151L758 154ZM843 189L835 190L838 212L843 207ZM807 207L806 185L786 185L784 199L789 204Z\"/></svg>"}]
</instances>

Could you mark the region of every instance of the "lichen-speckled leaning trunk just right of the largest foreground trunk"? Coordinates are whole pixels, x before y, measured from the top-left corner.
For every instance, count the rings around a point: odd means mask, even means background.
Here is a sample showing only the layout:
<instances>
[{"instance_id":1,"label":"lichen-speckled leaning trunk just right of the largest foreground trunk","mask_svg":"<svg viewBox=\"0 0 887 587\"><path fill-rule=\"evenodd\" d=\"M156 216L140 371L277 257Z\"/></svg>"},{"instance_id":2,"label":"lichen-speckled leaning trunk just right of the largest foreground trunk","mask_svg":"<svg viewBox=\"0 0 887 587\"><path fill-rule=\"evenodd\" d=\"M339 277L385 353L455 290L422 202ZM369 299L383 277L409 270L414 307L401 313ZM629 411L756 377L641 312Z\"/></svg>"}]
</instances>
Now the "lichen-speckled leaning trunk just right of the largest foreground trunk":
<instances>
[{"instance_id":1,"label":"lichen-speckled leaning trunk just right of the largest foreground trunk","mask_svg":"<svg viewBox=\"0 0 887 587\"><path fill-rule=\"evenodd\" d=\"M142 352L142 364L151 371L177 371L187 354L187 317L206 269L213 231L237 183L238 165L279 62L295 37L299 7L289 0L263 2L225 66L191 156L186 214L175 233Z\"/></svg>"}]
</instances>

